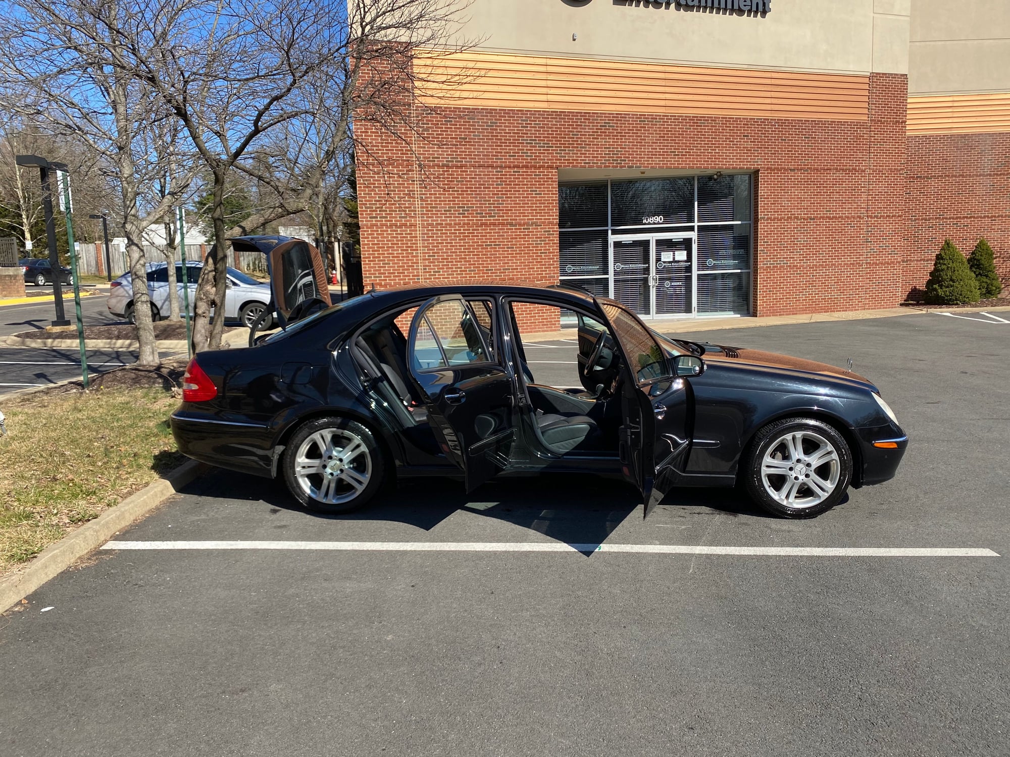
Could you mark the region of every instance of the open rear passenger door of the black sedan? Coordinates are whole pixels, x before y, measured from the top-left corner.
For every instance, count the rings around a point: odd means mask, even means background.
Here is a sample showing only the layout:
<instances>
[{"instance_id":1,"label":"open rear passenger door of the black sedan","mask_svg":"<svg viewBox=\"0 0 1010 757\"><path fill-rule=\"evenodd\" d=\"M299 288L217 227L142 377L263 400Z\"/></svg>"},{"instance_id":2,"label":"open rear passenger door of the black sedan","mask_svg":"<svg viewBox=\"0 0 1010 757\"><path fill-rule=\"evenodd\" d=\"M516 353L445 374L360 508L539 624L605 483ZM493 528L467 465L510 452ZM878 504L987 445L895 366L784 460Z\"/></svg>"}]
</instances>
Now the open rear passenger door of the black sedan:
<instances>
[{"instance_id":1,"label":"open rear passenger door of the black sedan","mask_svg":"<svg viewBox=\"0 0 1010 757\"><path fill-rule=\"evenodd\" d=\"M408 340L428 422L468 492L508 465L515 436L513 385L487 333L466 300L442 295L417 309Z\"/></svg>"}]
</instances>

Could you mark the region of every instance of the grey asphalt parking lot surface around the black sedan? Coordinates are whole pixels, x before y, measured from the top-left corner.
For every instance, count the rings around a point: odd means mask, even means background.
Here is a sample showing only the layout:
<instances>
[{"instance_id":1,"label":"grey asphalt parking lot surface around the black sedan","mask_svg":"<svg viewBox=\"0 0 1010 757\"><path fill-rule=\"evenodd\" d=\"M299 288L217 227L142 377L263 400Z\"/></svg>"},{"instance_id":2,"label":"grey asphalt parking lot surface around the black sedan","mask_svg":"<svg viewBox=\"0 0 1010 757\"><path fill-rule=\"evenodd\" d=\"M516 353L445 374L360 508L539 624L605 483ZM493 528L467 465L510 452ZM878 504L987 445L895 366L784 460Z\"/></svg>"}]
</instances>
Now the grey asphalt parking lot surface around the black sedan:
<instances>
[{"instance_id":1,"label":"grey asphalt parking lot surface around the black sedan","mask_svg":"<svg viewBox=\"0 0 1010 757\"><path fill-rule=\"evenodd\" d=\"M323 518L215 471L117 536L141 548L0 618L0 751L1005 755L1010 324L689 336L852 358L911 438L897 478L812 521L716 490L643 521L629 488L558 477L425 480ZM658 549L697 546L784 553Z\"/></svg>"}]
</instances>

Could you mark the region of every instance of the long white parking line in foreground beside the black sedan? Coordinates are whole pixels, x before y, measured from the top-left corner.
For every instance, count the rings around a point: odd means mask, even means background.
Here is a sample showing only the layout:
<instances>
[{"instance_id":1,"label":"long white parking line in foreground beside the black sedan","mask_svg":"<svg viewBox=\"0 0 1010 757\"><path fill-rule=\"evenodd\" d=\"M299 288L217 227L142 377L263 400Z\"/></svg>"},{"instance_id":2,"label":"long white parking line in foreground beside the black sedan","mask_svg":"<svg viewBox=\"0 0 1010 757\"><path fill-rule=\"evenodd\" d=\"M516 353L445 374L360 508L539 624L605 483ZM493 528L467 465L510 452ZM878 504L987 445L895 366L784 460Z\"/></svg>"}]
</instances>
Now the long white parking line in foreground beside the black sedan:
<instances>
[{"instance_id":1,"label":"long white parking line in foreground beside the black sedan","mask_svg":"<svg viewBox=\"0 0 1010 757\"><path fill-rule=\"evenodd\" d=\"M717 547L693 544L564 544L452 541L110 541L102 549L288 549L342 552L632 552L773 557L999 557L979 547Z\"/></svg>"}]
</instances>

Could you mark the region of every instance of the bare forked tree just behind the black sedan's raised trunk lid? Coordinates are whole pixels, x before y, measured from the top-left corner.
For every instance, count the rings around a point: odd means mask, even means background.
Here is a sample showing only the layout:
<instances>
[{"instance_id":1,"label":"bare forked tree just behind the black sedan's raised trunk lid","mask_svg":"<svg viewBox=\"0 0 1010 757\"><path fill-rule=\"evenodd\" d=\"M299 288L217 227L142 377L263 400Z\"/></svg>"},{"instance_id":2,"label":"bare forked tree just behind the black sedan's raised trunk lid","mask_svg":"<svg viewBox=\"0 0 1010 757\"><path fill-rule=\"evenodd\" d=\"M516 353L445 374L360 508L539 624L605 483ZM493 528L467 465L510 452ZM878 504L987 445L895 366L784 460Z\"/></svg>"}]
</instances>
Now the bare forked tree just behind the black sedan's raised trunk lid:
<instances>
[{"instance_id":1,"label":"bare forked tree just behind the black sedan's raised trunk lid","mask_svg":"<svg viewBox=\"0 0 1010 757\"><path fill-rule=\"evenodd\" d=\"M245 173L276 199L230 230L240 233L318 207L314 198L345 172L340 157L350 154L352 118L410 141L422 78L412 53L466 46L452 35L468 4L208 0L198 15L193 5L172 20L152 21L135 75L183 123L210 178L214 245L196 293L198 350L219 346L223 329L223 319L211 324L210 313L215 305L223 309L225 297L229 175ZM282 132L302 138L272 138Z\"/></svg>"}]
</instances>

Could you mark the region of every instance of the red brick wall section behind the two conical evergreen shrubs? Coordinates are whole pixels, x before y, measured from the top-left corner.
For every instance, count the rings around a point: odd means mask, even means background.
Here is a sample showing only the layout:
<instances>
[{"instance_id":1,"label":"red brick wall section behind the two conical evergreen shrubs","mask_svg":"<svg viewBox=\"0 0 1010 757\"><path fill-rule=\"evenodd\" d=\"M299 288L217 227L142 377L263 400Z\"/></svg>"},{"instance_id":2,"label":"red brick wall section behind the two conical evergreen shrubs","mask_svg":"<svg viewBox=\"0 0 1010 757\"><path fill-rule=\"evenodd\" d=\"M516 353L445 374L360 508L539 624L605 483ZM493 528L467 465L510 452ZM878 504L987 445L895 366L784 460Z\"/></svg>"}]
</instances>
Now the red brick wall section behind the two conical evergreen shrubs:
<instances>
[{"instance_id":1,"label":"red brick wall section behind the two conical evergreen shrubs","mask_svg":"<svg viewBox=\"0 0 1010 757\"><path fill-rule=\"evenodd\" d=\"M922 299L933 258L949 238L966 255L980 237L1010 289L1010 133L908 137L908 254L903 292Z\"/></svg>"}]
</instances>

